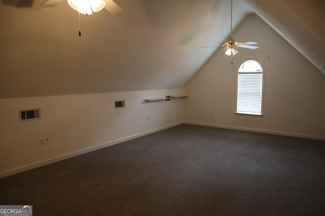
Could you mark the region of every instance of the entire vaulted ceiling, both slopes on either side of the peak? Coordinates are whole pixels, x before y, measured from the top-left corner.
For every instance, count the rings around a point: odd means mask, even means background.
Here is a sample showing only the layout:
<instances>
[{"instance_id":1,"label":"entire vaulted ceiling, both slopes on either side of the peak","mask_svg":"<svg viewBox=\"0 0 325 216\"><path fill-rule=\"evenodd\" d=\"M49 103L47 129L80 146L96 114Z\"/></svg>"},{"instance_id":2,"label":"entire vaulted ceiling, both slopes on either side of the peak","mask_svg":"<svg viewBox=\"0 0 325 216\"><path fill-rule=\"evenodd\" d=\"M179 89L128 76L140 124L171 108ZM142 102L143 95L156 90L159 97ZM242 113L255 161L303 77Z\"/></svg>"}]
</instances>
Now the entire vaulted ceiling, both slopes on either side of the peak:
<instances>
[{"instance_id":1,"label":"entire vaulted ceiling, both slopes on either side of the peak","mask_svg":"<svg viewBox=\"0 0 325 216\"><path fill-rule=\"evenodd\" d=\"M81 15L80 37L66 1L42 2L1 2L0 98L182 88L230 34L230 0L115 0L124 12ZM325 73L320 1L247 2L234 28L257 13Z\"/></svg>"}]
</instances>

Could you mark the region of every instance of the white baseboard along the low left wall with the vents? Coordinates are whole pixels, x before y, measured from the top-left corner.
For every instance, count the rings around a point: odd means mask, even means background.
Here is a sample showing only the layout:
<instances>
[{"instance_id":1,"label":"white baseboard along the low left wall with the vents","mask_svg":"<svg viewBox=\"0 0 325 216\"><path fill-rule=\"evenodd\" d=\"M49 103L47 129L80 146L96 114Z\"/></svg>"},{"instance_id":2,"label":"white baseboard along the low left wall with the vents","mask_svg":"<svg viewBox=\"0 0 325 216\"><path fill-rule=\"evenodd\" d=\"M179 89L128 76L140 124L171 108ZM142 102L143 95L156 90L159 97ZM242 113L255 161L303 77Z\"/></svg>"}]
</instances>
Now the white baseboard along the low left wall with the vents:
<instances>
[{"instance_id":1,"label":"white baseboard along the low left wall with the vents","mask_svg":"<svg viewBox=\"0 0 325 216\"><path fill-rule=\"evenodd\" d=\"M26 171L26 170L29 170L29 169L34 169L34 168L44 166L44 165L47 165L47 164L50 164L50 163L54 163L54 162L57 162L57 161L60 161L60 160L68 159L68 158L75 157L75 156L78 156L78 155L81 155L81 154L85 154L85 153L88 153L88 152L99 150L99 149L102 149L102 148L105 148L105 147L108 147L108 146L112 146L112 145L115 145L115 144L118 144L118 143L122 143L122 142L125 142L125 141L128 141L128 140L132 140L132 139L135 139L135 138L138 138L138 137L142 137L142 136L145 136L145 135L148 135L148 134L152 134L154 132L158 132L158 131L161 131L163 129L167 129L169 127L177 126L177 125L182 124L182 123L183 123L182 121L181 122L176 122L176 123L169 124L169 125L166 125L166 126L151 129L149 131L142 132L142 133L139 133L139 134L131 135L131 136L124 137L124 138L117 139L117 140L113 140L113 141L110 141L110 142L107 142L107 143L95 145L95 146L92 146L92 147L89 147L89 148L80 149L78 151L74 151L74 152L70 152L70 153L60 155L60 156L57 156L57 157L49 158L47 160L42 160L42 161L38 161L38 162L35 162L35 163L27 164L27 165L24 165L24 166L16 167L16 168L13 168L13 169L10 169L10 170L6 170L6 171L3 171L3 172L0 172L0 179L4 178L4 177L8 177L8 176L18 174L19 172L23 172L23 171Z\"/></svg>"}]
</instances>

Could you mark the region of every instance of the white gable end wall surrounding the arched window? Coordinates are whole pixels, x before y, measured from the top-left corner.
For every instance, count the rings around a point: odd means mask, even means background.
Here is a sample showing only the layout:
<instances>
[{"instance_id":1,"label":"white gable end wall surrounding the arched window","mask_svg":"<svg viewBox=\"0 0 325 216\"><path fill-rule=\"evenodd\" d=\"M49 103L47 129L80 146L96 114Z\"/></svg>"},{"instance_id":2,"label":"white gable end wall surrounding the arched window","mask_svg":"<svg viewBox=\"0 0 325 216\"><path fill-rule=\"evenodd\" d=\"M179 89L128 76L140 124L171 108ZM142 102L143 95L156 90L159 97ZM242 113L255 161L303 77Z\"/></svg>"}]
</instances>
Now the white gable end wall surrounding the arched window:
<instances>
[{"instance_id":1,"label":"white gable end wall surrounding the arched window","mask_svg":"<svg viewBox=\"0 0 325 216\"><path fill-rule=\"evenodd\" d=\"M238 48L233 64L217 50L185 86L185 122L325 140L324 74L256 15L233 36L261 47ZM235 114L237 71L250 59L264 70L263 117Z\"/></svg>"}]
</instances>

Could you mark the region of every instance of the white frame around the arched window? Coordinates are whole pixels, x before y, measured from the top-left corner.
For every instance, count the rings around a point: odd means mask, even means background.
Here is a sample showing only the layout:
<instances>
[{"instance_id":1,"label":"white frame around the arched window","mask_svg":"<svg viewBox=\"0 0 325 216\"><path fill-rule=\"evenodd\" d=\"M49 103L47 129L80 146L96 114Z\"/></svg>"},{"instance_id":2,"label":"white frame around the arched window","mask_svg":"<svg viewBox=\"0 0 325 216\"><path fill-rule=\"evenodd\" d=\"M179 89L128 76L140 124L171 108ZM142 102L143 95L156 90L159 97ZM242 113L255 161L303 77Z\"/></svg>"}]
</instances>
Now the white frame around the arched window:
<instances>
[{"instance_id":1,"label":"white frame around the arched window","mask_svg":"<svg viewBox=\"0 0 325 216\"><path fill-rule=\"evenodd\" d=\"M253 73L259 73L259 72L261 72L261 74L262 74L262 82L261 82L261 84L262 84L262 89L261 89L261 94L262 94L262 96L261 96L261 112L260 113L257 113L257 112L245 112L245 111L238 111L238 92L239 92L239 74L240 73L245 73L245 72L243 72L243 71L240 71L240 69L243 67L243 65L245 64L245 63L248 63L248 62L250 62L250 61L253 61L253 62L256 62L257 64L259 64L259 66L261 66L261 69L262 69L262 71L250 71L250 72L246 72L246 73L251 73L251 74L253 74ZM250 116L256 116L256 117L262 117L263 116L263 101L264 101L264 79L265 79L265 70L263 69L263 67L262 67L262 65L258 62L258 61L256 61L256 60L253 60L253 59L250 59L250 60L246 60L246 61L244 61L241 65L240 65L240 67L238 68L238 70L237 70L237 80L236 80L236 107L235 107L235 114L239 114L239 115L250 115Z\"/></svg>"}]
</instances>

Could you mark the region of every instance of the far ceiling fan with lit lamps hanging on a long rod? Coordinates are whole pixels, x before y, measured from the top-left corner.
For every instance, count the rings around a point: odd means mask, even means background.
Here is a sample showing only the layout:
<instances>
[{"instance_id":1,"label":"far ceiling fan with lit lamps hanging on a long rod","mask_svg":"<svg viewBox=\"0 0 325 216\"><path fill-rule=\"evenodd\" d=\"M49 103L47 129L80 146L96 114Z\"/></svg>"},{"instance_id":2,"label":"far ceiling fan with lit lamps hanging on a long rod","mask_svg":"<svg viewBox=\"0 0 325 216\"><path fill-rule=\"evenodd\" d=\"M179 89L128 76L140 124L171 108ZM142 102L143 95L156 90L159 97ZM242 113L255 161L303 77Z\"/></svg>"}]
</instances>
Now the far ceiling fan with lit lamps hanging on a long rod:
<instances>
[{"instance_id":1,"label":"far ceiling fan with lit lamps hanging on a long rod","mask_svg":"<svg viewBox=\"0 0 325 216\"><path fill-rule=\"evenodd\" d=\"M233 38L233 0L231 0L230 38L225 39L224 43L221 46L228 48L225 51L225 54L228 56L231 56L231 55L234 56L238 53L238 51L235 49L235 47L237 47L237 46L242 47L242 48L251 49L251 50L259 48L257 42L253 42L253 41L238 42L238 39ZM212 47L215 47L215 46L212 46ZM209 47L205 47L205 48L209 48Z\"/></svg>"}]
</instances>

